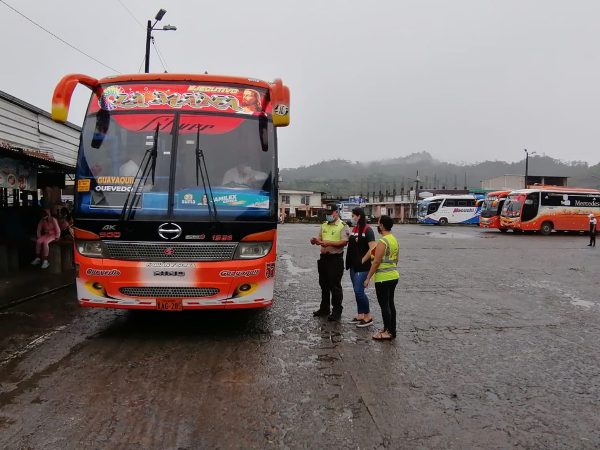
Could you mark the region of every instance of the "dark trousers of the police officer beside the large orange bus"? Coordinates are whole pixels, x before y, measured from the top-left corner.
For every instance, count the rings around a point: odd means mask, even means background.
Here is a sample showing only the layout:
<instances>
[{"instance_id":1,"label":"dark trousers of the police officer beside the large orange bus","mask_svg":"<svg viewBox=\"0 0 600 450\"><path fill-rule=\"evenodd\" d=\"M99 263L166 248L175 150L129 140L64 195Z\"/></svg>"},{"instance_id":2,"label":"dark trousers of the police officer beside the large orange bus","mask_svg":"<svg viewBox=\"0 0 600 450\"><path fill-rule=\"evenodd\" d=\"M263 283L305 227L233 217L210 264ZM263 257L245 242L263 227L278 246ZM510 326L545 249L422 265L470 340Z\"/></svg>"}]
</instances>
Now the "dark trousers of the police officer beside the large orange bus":
<instances>
[{"instance_id":1,"label":"dark trousers of the police officer beside the large orange bus","mask_svg":"<svg viewBox=\"0 0 600 450\"><path fill-rule=\"evenodd\" d=\"M343 254L323 253L317 261L319 286L321 286L321 311L342 314L342 276L344 275ZM331 303L331 310L330 310Z\"/></svg>"}]
</instances>

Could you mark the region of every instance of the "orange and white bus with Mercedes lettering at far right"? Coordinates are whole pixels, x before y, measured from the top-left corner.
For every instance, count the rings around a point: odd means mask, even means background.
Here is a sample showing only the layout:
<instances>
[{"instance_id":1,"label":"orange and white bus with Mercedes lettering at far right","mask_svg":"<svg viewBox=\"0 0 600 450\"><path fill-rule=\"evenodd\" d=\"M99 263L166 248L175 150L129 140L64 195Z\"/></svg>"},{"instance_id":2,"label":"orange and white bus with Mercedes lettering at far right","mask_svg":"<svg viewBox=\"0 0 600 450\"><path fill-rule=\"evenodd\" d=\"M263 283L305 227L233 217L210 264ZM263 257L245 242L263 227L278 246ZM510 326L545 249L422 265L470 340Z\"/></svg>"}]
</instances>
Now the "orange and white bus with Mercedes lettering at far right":
<instances>
[{"instance_id":1,"label":"orange and white bus with Mercedes lettering at far right","mask_svg":"<svg viewBox=\"0 0 600 450\"><path fill-rule=\"evenodd\" d=\"M501 226L515 232L586 231L589 214L600 217L600 191L545 186L511 192L504 202Z\"/></svg>"}]
</instances>

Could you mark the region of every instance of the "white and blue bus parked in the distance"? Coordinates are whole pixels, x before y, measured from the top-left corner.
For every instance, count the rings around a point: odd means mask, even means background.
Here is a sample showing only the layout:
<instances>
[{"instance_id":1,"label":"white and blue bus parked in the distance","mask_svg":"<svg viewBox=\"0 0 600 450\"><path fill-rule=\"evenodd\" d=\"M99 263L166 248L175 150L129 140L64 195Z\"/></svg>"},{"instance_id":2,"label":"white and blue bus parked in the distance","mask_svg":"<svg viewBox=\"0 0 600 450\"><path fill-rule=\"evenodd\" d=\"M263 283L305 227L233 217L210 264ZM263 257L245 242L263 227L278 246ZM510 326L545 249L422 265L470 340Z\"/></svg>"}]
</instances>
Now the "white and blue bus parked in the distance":
<instances>
[{"instance_id":1,"label":"white and blue bus parked in the distance","mask_svg":"<svg viewBox=\"0 0 600 450\"><path fill-rule=\"evenodd\" d=\"M436 195L419 202L419 223L479 223L479 208L474 195Z\"/></svg>"}]
</instances>

